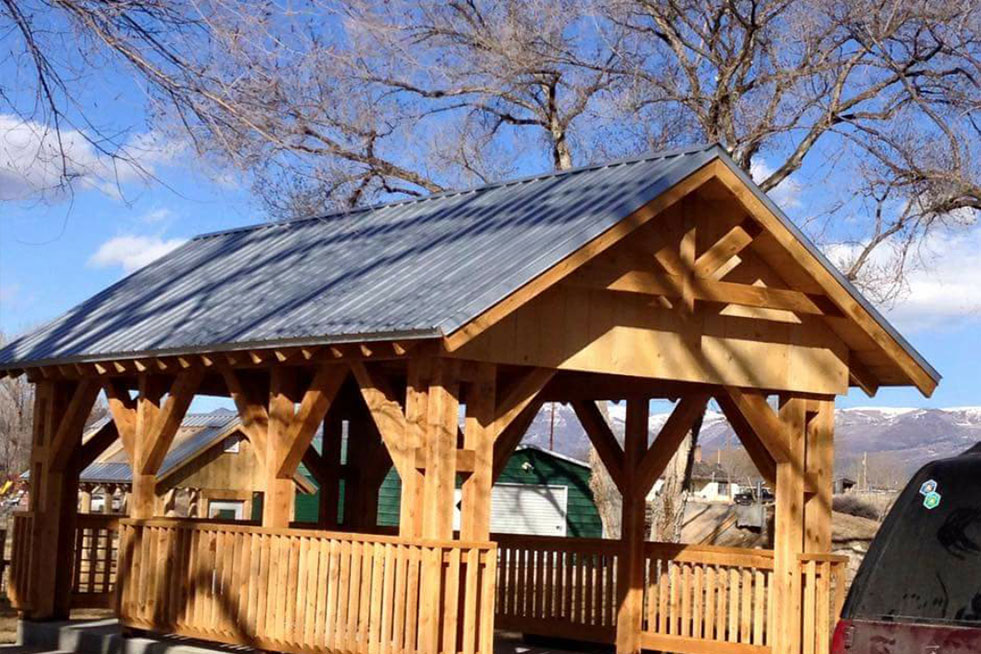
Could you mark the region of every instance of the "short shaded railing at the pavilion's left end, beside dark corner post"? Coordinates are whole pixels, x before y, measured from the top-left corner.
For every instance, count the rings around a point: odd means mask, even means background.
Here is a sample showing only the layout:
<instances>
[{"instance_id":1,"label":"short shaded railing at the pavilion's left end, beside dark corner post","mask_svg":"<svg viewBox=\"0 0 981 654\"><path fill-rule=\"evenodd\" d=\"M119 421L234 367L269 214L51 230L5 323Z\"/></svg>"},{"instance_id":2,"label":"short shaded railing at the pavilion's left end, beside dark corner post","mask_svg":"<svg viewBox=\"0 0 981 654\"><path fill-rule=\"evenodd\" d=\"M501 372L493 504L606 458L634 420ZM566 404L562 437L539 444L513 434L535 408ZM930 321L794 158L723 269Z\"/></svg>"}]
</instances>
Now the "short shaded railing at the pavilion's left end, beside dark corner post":
<instances>
[{"instance_id":1,"label":"short shaded railing at the pavilion's left end, beside dark corner post","mask_svg":"<svg viewBox=\"0 0 981 654\"><path fill-rule=\"evenodd\" d=\"M79 513L72 567L73 608L109 608L116 583L118 515Z\"/></svg>"}]
</instances>

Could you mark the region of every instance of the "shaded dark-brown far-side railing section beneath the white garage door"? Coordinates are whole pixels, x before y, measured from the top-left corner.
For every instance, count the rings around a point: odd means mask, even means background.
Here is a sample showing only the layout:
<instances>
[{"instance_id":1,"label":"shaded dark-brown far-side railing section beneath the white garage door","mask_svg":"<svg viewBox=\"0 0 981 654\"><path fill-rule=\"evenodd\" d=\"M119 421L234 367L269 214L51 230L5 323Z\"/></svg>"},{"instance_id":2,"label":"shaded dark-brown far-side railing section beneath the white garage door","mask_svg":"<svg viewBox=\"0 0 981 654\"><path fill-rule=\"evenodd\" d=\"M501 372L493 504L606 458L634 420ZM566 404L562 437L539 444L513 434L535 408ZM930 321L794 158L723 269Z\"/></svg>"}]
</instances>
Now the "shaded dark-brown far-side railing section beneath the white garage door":
<instances>
[{"instance_id":1,"label":"shaded dark-brown far-side railing section beneath the white garage door","mask_svg":"<svg viewBox=\"0 0 981 654\"><path fill-rule=\"evenodd\" d=\"M619 541L496 535L498 629L611 643Z\"/></svg>"}]
</instances>

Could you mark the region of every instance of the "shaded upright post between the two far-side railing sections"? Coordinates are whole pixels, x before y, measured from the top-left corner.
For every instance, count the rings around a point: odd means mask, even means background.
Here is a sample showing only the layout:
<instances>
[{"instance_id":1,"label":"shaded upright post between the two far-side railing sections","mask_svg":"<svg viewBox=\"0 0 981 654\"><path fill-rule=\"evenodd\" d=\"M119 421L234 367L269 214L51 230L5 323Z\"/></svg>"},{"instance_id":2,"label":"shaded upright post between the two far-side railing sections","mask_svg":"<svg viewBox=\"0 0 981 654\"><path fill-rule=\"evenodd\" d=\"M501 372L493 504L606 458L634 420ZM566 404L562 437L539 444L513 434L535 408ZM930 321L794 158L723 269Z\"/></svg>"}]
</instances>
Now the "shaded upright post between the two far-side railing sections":
<instances>
[{"instance_id":1,"label":"shaded upright post between the two far-side railing sections","mask_svg":"<svg viewBox=\"0 0 981 654\"><path fill-rule=\"evenodd\" d=\"M627 400L623 448L623 502L620 526L621 564L618 567L617 654L640 652L644 600L644 489L638 477L647 451L647 398Z\"/></svg>"}]
</instances>

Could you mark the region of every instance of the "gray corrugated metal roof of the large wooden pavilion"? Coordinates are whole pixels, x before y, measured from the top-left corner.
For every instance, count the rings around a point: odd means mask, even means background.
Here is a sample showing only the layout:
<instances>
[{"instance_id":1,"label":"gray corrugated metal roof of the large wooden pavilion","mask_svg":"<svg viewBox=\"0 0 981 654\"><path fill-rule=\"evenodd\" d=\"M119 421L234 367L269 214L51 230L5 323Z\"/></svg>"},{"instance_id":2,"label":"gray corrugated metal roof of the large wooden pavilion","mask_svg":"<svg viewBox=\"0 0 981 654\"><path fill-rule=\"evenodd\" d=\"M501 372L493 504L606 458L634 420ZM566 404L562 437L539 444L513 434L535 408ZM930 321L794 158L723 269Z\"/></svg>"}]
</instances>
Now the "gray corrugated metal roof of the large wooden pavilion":
<instances>
[{"instance_id":1,"label":"gray corrugated metal roof of the large wooden pavilion","mask_svg":"<svg viewBox=\"0 0 981 654\"><path fill-rule=\"evenodd\" d=\"M199 236L0 350L0 369L453 332L721 159L717 145Z\"/></svg>"}]
</instances>

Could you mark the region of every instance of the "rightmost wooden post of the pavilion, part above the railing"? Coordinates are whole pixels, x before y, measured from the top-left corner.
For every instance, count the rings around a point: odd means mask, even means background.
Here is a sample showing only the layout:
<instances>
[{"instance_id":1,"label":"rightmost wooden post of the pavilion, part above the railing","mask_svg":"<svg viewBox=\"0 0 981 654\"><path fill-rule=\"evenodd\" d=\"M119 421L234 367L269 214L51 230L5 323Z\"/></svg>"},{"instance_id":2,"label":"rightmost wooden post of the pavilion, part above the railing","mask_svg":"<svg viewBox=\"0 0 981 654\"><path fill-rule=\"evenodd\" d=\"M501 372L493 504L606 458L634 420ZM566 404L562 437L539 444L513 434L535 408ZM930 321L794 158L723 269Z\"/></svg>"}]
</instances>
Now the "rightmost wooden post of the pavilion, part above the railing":
<instances>
[{"instance_id":1,"label":"rightmost wooden post of the pavilion, part above the railing","mask_svg":"<svg viewBox=\"0 0 981 654\"><path fill-rule=\"evenodd\" d=\"M807 477L813 492L804 501L804 551L831 551L831 502L834 492L834 398L811 400L807 422Z\"/></svg>"}]
</instances>

